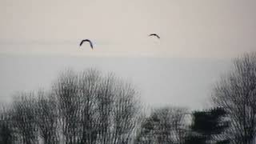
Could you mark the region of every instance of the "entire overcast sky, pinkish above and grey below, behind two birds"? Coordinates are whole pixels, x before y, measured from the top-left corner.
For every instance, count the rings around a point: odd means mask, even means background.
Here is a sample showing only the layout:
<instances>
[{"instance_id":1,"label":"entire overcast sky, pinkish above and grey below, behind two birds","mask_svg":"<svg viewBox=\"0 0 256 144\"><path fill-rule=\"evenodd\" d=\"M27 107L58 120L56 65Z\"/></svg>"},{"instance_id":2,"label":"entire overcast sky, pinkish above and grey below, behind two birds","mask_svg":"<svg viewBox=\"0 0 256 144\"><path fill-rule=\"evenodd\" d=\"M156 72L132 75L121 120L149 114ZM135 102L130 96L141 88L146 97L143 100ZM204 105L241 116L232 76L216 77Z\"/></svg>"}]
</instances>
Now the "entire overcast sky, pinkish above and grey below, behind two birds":
<instances>
[{"instance_id":1,"label":"entire overcast sky, pinkish above and grey below, behind two birds","mask_svg":"<svg viewBox=\"0 0 256 144\"><path fill-rule=\"evenodd\" d=\"M146 102L202 106L230 59L256 50L255 7L254 0L1 0L0 98L48 86L66 66L98 66L132 79ZM94 50L79 48L82 38Z\"/></svg>"}]
</instances>

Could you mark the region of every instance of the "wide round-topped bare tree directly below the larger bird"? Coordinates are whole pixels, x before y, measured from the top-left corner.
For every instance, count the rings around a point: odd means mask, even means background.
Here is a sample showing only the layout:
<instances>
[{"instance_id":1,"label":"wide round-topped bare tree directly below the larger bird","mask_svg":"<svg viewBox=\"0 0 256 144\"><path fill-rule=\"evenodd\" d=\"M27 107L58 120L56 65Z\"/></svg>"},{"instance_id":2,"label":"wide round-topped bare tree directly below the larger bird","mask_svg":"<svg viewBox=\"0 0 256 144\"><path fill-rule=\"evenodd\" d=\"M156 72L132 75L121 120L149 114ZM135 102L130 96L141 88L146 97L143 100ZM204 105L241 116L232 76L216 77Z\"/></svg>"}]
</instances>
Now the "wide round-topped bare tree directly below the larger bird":
<instances>
[{"instance_id":1,"label":"wide round-topped bare tree directly below the larger bird","mask_svg":"<svg viewBox=\"0 0 256 144\"><path fill-rule=\"evenodd\" d=\"M140 111L138 95L114 74L67 70L55 82L54 95L66 143L131 142Z\"/></svg>"}]
</instances>

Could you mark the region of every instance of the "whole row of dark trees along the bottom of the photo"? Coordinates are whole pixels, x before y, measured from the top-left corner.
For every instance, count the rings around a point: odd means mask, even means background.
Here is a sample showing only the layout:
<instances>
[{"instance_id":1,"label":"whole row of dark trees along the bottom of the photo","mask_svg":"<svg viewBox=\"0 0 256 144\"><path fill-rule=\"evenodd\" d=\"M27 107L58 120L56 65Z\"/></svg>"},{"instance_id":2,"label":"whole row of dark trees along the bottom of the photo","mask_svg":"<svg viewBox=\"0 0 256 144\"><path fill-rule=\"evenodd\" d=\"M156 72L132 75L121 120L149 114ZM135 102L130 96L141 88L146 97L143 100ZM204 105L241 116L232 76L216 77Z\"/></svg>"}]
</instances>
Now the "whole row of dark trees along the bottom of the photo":
<instances>
[{"instance_id":1,"label":"whole row of dark trees along the bottom of the photo","mask_svg":"<svg viewBox=\"0 0 256 144\"><path fill-rule=\"evenodd\" d=\"M234 59L214 86L212 108L149 111L114 74L66 70L50 90L21 92L0 107L0 144L252 144L256 54Z\"/></svg>"}]
</instances>

